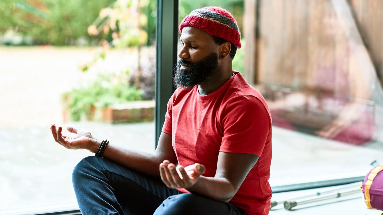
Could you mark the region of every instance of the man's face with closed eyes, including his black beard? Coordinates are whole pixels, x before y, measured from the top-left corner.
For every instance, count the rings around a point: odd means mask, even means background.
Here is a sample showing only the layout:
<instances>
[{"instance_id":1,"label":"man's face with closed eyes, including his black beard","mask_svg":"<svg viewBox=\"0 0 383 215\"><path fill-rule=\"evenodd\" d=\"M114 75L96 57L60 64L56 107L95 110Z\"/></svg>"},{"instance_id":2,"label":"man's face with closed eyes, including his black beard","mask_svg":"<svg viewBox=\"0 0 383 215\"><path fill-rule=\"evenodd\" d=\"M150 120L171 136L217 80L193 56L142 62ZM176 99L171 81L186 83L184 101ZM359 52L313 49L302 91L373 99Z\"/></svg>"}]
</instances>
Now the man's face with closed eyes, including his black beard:
<instances>
[{"instance_id":1,"label":"man's face with closed eyes, including his black beard","mask_svg":"<svg viewBox=\"0 0 383 215\"><path fill-rule=\"evenodd\" d=\"M174 85L192 88L214 74L218 66L217 45L210 34L189 26L182 29L180 42Z\"/></svg>"}]
</instances>

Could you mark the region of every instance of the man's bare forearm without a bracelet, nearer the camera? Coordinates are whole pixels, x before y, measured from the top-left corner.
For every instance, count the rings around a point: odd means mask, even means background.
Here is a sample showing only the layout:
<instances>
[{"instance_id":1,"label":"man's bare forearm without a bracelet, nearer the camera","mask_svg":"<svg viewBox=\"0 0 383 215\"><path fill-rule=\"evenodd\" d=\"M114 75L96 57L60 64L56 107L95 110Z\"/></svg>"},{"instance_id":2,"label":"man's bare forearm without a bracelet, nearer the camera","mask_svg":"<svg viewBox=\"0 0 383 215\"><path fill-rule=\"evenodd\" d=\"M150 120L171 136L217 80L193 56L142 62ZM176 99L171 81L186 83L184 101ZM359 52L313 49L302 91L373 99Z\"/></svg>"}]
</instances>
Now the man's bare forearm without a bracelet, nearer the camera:
<instances>
[{"instance_id":1,"label":"man's bare forearm without a bracelet, nearer the camera","mask_svg":"<svg viewBox=\"0 0 383 215\"><path fill-rule=\"evenodd\" d=\"M219 202L229 202L237 192L228 179L205 176L200 176L198 182L187 190Z\"/></svg>"}]
</instances>

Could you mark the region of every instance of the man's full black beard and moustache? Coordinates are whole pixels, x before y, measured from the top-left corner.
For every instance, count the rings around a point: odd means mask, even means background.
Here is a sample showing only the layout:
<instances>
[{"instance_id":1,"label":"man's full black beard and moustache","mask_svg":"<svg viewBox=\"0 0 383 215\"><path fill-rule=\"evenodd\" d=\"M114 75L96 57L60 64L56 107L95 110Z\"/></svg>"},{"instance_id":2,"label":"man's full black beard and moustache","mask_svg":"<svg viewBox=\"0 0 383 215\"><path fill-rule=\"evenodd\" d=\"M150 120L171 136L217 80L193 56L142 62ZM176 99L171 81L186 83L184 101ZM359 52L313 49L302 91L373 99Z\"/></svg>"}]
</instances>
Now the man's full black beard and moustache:
<instances>
[{"instance_id":1,"label":"man's full black beard and moustache","mask_svg":"<svg viewBox=\"0 0 383 215\"><path fill-rule=\"evenodd\" d=\"M188 70L181 70L181 64L188 65ZM215 52L197 62L180 59L175 68L173 84L175 87L193 88L195 85L209 80L217 66L218 54Z\"/></svg>"}]
</instances>

